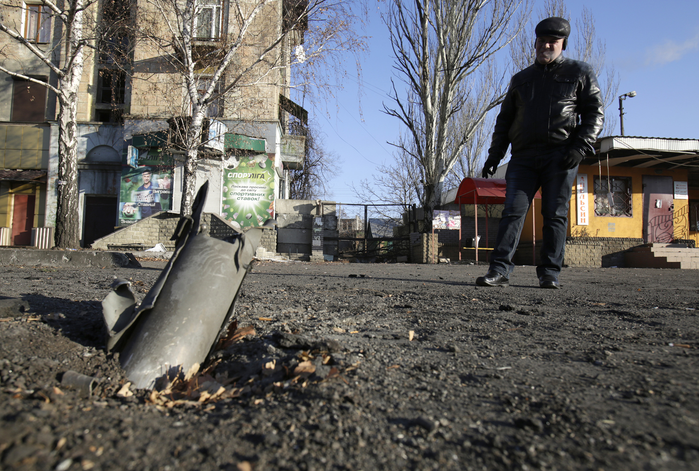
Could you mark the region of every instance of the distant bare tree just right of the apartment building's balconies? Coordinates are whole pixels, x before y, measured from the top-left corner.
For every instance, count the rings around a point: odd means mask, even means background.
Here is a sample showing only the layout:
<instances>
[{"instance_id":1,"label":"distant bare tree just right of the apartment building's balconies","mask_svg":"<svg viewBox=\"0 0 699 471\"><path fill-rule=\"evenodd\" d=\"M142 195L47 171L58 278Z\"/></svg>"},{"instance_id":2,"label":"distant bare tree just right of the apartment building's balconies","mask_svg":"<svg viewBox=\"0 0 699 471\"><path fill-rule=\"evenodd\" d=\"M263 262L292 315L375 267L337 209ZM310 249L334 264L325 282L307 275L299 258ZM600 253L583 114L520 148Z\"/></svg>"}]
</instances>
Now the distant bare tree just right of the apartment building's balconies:
<instances>
[{"instance_id":1,"label":"distant bare tree just right of the apartment building's balconies","mask_svg":"<svg viewBox=\"0 0 699 471\"><path fill-rule=\"evenodd\" d=\"M329 152L316 126L301 127L305 133L303 168L289 171L289 199L313 200L332 193L328 182L339 173L338 157Z\"/></svg>"}]
</instances>

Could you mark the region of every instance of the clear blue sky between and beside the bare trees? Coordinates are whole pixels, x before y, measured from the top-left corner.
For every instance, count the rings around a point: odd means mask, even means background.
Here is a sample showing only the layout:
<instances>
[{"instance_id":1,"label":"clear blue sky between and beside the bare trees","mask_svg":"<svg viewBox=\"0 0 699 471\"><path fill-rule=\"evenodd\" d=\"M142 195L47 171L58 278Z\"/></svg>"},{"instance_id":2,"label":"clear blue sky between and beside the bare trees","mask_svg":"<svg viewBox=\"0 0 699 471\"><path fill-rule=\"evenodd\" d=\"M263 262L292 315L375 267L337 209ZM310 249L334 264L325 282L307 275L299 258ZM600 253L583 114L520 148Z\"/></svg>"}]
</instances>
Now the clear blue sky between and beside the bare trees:
<instances>
[{"instance_id":1,"label":"clear blue sky between and beside the bare trees","mask_svg":"<svg viewBox=\"0 0 699 471\"><path fill-rule=\"evenodd\" d=\"M537 1L534 15L542 3ZM597 36L607 45L607 63L621 79L619 94L637 92L624 101L625 134L699 138L699 1L567 0L566 5L572 18L583 6L591 10ZM359 89L349 73L337 101L328 102L324 112L313 113L326 150L340 159L340 175L330 182L329 199L343 203L358 202L353 183L370 179L377 164L391 163L393 150L387 141L396 140L401 129L396 118L382 113L382 103L390 103L394 59L379 15L385 3L374 3L372 8L366 30L370 51L362 61L363 87ZM618 108L618 101L607 108L608 114L617 115L615 135Z\"/></svg>"}]
</instances>

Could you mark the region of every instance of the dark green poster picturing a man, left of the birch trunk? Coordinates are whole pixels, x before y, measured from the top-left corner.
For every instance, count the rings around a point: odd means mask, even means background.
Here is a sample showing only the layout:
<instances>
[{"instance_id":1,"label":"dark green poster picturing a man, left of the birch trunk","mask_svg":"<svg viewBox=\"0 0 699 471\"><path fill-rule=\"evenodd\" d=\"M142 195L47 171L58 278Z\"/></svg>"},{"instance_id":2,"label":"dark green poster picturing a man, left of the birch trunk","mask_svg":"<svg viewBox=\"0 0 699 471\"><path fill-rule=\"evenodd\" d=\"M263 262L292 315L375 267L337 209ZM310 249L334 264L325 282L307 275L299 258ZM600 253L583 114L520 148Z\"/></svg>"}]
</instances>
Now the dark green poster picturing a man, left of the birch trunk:
<instances>
[{"instance_id":1,"label":"dark green poster picturing a man, left of the birch trunk","mask_svg":"<svg viewBox=\"0 0 699 471\"><path fill-rule=\"evenodd\" d=\"M173 168L143 165L122 167L119 226L128 226L172 208Z\"/></svg>"}]
</instances>

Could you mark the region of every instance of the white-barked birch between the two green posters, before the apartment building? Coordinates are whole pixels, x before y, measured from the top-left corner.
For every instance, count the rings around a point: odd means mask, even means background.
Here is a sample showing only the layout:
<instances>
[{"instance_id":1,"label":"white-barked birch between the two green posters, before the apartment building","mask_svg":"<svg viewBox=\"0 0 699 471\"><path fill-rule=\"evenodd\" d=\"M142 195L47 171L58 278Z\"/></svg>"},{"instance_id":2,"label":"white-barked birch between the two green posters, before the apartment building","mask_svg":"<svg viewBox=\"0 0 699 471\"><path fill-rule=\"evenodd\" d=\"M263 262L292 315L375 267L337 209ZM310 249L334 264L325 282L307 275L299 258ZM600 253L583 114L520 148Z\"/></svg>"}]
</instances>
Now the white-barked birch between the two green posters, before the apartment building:
<instances>
[{"instance_id":1,"label":"white-barked birch between the two green posters, before the apartment building","mask_svg":"<svg viewBox=\"0 0 699 471\"><path fill-rule=\"evenodd\" d=\"M231 0L228 20L219 22L211 21L212 15L225 17L215 10L221 8L219 2L144 2L148 8L139 12L138 34L158 51L160 77L147 71L135 75L158 88L155 94L170 101L172 115L183 117L175 119L175 131L185 154L180 208L187 215L194 201L196 162L206 158L201 154L206 118L226 109L229 119L254 122L255 113L271 109L260 90L288 88L292 64L316 64L356 45L347 40L352 31L333 23L343 12L350 14L349 1ZM178 95L183 99L178 101Z\"/></svg>"}]
</instances>

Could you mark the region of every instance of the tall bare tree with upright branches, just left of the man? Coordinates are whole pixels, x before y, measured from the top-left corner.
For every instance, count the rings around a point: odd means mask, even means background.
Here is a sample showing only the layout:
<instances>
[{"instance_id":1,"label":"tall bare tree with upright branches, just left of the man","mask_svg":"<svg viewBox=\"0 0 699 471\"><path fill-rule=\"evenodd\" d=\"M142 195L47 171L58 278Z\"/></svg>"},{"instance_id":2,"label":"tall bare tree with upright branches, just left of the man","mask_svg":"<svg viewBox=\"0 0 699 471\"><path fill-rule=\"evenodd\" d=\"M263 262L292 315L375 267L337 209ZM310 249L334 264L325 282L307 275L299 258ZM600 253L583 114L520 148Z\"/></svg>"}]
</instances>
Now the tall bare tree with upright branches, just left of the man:
<instances>
[{"instance_id":1,"label":"tall bare tree with upright branches, just left of the man","mask_svg":"<svg viewBox=\"0 0 699 471\"><path fill-rule=\"evenodd\" d=\"M463 147L502 100L501 82L483 80L486 88L477 89L475 73L490 68L496 76L490 59L521 31L528 10L524 0L392 1L387 25L395 68L408 90L403 97L394 83L394 106L384 110L408 129L414 147L398 147L423 172L426 210L440 205Z\"/></svg>"}]
</instances>

